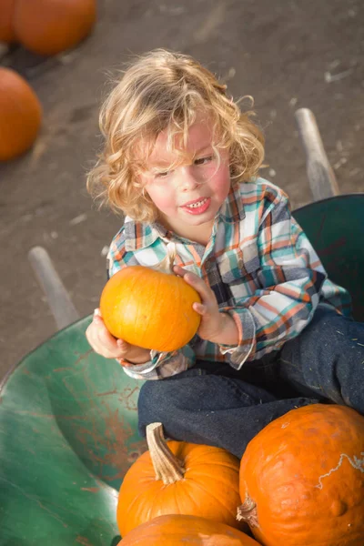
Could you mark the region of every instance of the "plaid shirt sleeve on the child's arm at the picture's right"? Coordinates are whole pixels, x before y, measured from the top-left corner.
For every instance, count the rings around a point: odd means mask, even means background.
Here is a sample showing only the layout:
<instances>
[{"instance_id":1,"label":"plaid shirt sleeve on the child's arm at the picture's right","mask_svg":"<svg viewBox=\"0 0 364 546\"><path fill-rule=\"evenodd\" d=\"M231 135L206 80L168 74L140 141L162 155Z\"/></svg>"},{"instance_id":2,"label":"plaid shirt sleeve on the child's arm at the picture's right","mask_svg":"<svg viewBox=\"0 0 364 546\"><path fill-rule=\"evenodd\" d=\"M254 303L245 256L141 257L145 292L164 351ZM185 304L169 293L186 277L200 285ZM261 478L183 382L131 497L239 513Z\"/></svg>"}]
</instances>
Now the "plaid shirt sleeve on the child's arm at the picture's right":
<instances>
[{"instance_id":1,"label":"plaid shirt sleeve on the child's arm at the picture's right","mask_svg":"<svg viewBox=\"0 0 364 546\"><path fill-rule=\"evenodd\" d=\"M238 346L220 346L236 369L295 338L312 319L327 278L283 193L263 207L257 247L256 275L261 288L234 307L220 308L238 327Z\"/></svg>"}]
</instances>

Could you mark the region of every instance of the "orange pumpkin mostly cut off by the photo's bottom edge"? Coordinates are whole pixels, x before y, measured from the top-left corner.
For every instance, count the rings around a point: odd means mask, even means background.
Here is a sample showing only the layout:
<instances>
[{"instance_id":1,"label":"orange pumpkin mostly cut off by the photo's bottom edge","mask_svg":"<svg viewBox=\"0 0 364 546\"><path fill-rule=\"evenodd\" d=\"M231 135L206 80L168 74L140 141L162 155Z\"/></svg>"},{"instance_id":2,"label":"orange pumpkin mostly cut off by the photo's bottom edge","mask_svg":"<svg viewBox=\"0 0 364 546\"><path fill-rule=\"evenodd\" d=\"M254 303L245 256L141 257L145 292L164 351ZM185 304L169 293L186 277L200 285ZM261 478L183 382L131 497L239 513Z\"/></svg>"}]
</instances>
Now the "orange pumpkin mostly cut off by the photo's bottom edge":
<instances>
[{"instance_id":1,"label":"orange pumpkin mostly cut off by the photo's bottom edge","mask_svg":"<svg viewBox=\"0 0 364 546\"><path fill-rule=\"evenodd\" d=\"M196 516L159 516L130 531L117 546L258 546L225 523ZM283 545L282 545L283 546Z\"/></svg>"}]
</instances>

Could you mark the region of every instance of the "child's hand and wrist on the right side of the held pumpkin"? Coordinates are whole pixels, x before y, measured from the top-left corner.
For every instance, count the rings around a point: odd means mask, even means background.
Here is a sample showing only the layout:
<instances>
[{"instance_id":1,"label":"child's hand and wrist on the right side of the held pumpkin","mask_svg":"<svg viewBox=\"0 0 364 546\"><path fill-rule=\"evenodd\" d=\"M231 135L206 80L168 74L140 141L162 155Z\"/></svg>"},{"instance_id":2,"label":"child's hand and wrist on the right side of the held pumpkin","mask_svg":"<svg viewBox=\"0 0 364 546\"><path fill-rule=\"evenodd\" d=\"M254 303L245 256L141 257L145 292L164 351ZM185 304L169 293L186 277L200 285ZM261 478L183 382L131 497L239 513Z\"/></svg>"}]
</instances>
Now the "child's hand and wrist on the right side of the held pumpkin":
<instances>
[{"instance_id":1,"label":"child's hand and wrist on the right side of the held pumpkin","mask_svg":"<svg viewBox=\"0 0 364 546\"><path fill-rule=\"evenodd\" d=\"M174 272L192 288L197 290L201 303L194 303L193 308L201 315L201 323L197 334L201 339L207 339L213 343L238 345L238 328L227 313L220 313L217 305L217 298L206 282L197 277L195 273L186 271L179 266L173 268Z\"/></svg>"}]
</instances>

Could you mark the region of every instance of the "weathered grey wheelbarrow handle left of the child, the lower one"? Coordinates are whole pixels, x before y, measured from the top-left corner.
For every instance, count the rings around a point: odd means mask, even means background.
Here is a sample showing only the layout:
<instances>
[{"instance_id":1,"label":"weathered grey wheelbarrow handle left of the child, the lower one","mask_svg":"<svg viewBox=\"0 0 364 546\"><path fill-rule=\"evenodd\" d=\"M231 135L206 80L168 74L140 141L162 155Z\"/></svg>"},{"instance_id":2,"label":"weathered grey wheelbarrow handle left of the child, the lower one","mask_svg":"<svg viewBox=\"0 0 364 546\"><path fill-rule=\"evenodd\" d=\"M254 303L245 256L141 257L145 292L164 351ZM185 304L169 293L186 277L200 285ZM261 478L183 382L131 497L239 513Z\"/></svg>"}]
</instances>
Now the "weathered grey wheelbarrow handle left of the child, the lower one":
<instances>
[{"instance_id":1,"label":"weathered grey wheelbarrow handle left of the child, the lower one","mask_svg":"<svg viewBox=\"0 0 364 546\"><path fill-rule=\"evenodd\" d=\"M31 248L28 252L28 258L35 271L35 277L45 293L48 306L56 320L57 329L66 328L69 324L80 319L45 248Z\"/></svg>"}]
</instances>

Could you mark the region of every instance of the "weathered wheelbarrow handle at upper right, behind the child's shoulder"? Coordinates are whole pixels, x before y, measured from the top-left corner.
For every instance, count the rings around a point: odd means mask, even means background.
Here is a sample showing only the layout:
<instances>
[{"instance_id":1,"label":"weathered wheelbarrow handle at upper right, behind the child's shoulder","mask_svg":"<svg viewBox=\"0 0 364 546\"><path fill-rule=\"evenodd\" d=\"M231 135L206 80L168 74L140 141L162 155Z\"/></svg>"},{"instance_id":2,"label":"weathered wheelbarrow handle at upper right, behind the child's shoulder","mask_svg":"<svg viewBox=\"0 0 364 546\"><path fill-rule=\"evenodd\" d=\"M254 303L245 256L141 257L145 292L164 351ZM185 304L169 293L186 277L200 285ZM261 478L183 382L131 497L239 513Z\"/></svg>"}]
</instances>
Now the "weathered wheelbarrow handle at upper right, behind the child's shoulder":
<instances>
[{"instance_id":1,"label":"weathered wheelbarrow handle at upper right, behind the child's shoulder","mask_svg":"<svg viewBox=\"0 0 364 546\"><path fill-rule=\"evenodd\" d=\"M299 108L295 117L306 153L308 182L314 200L338 196L338 182L322 144L315 116L308 108Z\"/></svg>"}]
</instances>

